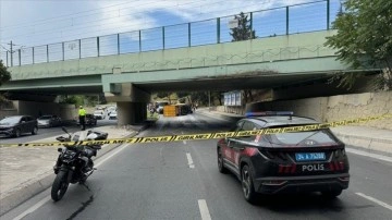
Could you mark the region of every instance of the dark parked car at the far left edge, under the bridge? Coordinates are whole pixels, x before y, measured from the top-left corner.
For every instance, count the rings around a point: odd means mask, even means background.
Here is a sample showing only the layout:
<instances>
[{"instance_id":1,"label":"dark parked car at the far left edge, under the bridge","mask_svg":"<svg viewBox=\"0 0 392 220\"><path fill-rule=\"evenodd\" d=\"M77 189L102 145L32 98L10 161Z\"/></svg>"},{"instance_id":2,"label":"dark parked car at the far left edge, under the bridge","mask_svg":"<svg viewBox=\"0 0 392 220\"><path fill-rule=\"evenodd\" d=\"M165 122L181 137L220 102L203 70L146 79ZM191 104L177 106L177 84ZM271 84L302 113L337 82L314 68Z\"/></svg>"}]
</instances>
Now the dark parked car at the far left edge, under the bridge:
<instances>
[{"instance_id":1,"label":"dark parked car at the far left edge, under the bridge","mask_svg":"<svg viewBox=\"0 0 392 220\"><path fill-rule=\"evenodd\" d=\"M30 115L14 115L8 117L0 121L0 136L19 137L24 133L38 132L38 122Z\"/></svg>"}]
</instances>

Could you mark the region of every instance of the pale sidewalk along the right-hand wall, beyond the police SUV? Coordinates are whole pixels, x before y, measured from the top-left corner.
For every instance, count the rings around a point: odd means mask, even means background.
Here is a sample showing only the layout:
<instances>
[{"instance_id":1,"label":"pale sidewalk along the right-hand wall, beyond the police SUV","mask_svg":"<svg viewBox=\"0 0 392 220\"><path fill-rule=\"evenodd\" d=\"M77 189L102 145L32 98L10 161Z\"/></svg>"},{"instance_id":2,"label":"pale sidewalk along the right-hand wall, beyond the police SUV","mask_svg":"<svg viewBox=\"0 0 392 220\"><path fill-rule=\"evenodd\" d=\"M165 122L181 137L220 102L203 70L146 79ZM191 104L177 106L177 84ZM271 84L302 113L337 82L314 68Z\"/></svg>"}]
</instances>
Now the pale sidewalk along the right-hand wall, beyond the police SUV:
<instances>
[{"instance_id":1,"label":"pale sidewalk along the right-hand wall, beyond the police SUV","mask_svg":"<svg viewBox=\"0 0 392 220\"><path fill-rule=\"evenodd\" d=\"M208 109L200 109L198 113L233 123L244 118L233 113L208 111ZM392 157L392 131L390 130L379 130L358 125L338 126L332 127L331 131L346 145L368 152L382 154L383 156Z\"/></svg>"}]
</instances>

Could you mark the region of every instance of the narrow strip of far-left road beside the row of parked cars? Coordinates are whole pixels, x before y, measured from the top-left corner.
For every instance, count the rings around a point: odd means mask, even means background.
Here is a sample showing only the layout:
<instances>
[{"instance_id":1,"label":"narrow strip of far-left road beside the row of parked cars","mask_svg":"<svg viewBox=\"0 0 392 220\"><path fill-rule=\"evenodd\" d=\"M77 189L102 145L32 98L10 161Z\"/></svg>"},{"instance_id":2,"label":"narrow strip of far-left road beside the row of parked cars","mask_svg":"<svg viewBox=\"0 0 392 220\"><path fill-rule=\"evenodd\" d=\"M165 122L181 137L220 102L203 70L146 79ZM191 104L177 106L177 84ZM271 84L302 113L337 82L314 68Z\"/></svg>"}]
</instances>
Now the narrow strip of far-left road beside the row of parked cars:
<instances>
[{"instance_id":1,"label":"narrow strip of far-left road beside the row of parked cars","mask_svg":"<svg viewBox=\"0 0 392 220\"><path fill-rule=\"evenodd\" d=\"M89 127L99 127L99 126L106 126L106 125L115 125L117 124L117 120L108 120L103 119L103 120L98 120L97 121L97 126L89 126L86 125L86 129ZM71 124L71 125L65 125L66 130L70 133L76 132L76 131L81 131L81 127L77 126L76 124ZM39 127L38 129L38 134L37 135L32 135L32 134L22 134L22 136L15 138L15 137L0 137L0 142L2 144L12 144L12 143L27 143L27 142L35 142L38 139L44 139L47 137L52 137L52 136L60 136L63 135L64 132L61 130L61 126L56 126L56 127Z\"/></svg>"}]
</instances>

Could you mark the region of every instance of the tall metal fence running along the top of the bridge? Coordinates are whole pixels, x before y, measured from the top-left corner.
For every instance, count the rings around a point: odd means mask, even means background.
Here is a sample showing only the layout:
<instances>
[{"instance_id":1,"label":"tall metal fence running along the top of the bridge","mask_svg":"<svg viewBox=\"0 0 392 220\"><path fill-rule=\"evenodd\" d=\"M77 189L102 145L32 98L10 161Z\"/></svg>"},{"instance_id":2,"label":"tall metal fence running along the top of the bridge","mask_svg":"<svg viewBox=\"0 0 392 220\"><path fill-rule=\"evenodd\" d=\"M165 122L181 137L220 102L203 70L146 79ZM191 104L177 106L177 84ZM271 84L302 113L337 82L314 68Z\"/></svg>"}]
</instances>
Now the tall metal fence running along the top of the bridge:
<instances>
[{"instance_id":1,"label":"tall metal fence running along the top of the bridge","mask_svg":"<svg viewBox=\"0 0 392 220\"><path fill-rule=\"evenodd\" d=\"M329 29L340 8L321 0L248 12L257 38ZM234 15L206 21L76 39L5 52L7 66L193 47L232 41L229 22Z\"/></svg>"}]
</instances>

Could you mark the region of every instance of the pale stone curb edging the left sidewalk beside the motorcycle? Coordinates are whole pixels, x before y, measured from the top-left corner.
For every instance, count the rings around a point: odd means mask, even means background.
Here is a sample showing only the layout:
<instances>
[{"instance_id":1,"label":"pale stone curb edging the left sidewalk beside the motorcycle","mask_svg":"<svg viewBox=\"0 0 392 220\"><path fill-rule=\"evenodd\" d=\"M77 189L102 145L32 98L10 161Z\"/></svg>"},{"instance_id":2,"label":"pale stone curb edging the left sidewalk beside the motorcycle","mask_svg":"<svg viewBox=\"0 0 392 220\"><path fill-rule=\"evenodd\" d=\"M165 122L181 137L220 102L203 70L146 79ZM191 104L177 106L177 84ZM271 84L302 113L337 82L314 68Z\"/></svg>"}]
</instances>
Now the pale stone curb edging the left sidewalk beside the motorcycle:
<instances>
[{"instance_id":1,"label":"pale stone curb edging the left sidewalk beside the motorcycle","mask_svg":"<svg viewBox=\"0 0 392 220\"><path fill-rule=\"evenodd\" d=\"M122 138L130 138L136 136L139 132L148 129L149 124L144 125L138 131L131 133L127 136ZM118 145L110 145L102 147L99 154L94 158L97 160L98 158L102 157L103 155L110 152L111 150L118 148L122 144ZM53 183L56 175L53 171L50 170L45 172L38 176L38 180L32 180L30 182L23 183L19 185L19 188L12 192L10 195L5 196L4 198L0 199L0 217L10 211L11 209L15 208L16 206L21 205L22 203L26 201L28 198L44 192Z\"/></svg>"}]
</instances>

